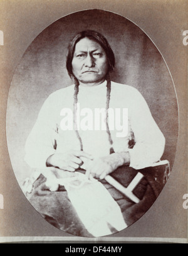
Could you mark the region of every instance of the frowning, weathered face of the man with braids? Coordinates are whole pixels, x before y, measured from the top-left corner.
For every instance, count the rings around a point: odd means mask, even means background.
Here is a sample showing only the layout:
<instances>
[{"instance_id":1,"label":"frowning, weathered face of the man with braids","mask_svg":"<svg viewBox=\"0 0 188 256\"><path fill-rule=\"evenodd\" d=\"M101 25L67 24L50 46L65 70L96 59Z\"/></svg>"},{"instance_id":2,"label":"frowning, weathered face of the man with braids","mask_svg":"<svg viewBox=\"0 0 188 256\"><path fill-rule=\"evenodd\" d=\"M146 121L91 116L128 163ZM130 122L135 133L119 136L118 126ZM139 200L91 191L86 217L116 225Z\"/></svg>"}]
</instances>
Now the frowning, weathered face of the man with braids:
<instances>
[{"instance_id":1,"label":"frowning, weathered face of the man with braids","mask_svg":"<svg viewBox=\"0 0 188 256\"><path fill-rule=\"evenodd\" d=\"M82 84L100 84L108 71L107 55L97 42L83 38L76 43L72 68L73 74Z\"/></svg>"}]
</instances>

